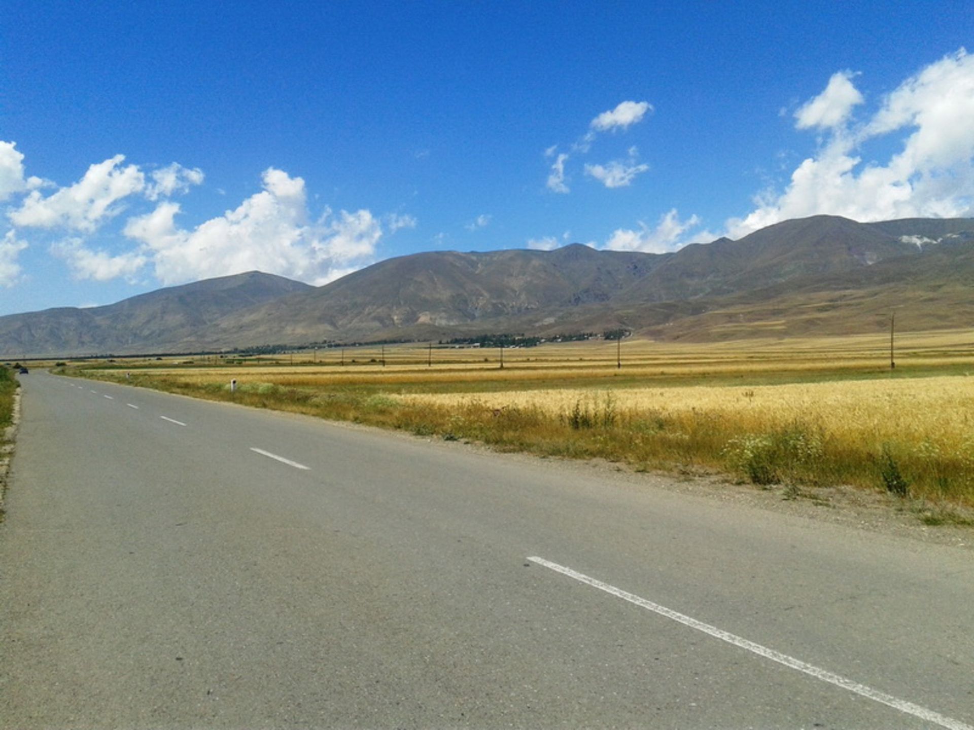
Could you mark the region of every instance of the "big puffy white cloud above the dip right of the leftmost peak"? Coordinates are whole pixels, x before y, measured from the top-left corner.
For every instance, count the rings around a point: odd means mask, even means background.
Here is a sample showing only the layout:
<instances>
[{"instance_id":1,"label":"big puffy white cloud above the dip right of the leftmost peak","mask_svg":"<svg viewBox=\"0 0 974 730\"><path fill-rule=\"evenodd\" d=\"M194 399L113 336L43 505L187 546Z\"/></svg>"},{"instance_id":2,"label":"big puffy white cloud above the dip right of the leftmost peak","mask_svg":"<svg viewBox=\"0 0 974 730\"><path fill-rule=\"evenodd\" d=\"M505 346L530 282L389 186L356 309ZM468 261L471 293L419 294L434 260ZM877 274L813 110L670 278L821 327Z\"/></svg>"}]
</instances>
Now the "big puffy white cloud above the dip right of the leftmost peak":
<instances>
[{"instance_id":1,"label":"big puffy white cloud above the dip right of the leftmost peak","mask_svg":"<svg viewBox=\"0 0 974 730\"><path fill-rule=\"evenodd\" d=\"M263 191L193 230L178 228L179 204L164 201L124 234L164 284L252 270L320 284L371 263L382 227L368 210L326 209L310 222L302 178L272 167L262 181Z\"/></svg>"}]
</instances>

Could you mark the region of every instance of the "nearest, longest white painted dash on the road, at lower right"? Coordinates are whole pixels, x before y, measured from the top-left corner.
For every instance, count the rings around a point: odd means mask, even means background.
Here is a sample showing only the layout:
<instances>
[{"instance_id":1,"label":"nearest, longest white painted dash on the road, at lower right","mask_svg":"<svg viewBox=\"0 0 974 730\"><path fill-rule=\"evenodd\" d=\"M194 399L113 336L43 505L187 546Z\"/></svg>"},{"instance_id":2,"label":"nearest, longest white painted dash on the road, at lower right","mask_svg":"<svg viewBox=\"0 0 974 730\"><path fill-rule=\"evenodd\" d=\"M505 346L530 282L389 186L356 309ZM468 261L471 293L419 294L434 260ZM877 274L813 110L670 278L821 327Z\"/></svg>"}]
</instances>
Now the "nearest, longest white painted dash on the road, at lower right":
<instances>
[{"instance_id":1,"label":"nearest, longest white painted dash on the road, at lower right","mask_svg":"<svg viewBox=\"0 0 974 730\"><path fill-rule=\"evenodd\" d=\"M627 593L615 586L609 585L608 583L603 583L601 580L589 577L583 573L573 570L570 567L559 566L557 563L551 563L543 558L531 557L528 558L532 563L537 563L539 566L544 566L555 570L556 572L567 575L570 578L575 578L581 583L592 586L593 588L598 588L600 591L605 591L623 601L628 601L630 603L635 603L642 608L658 613L660 616L665 616L666 618L673 619L674 621L683 624L684 626L689 626L691 629L696 629L704 634L708 634L715 639L721 639L722 641L727 641L734 646L739 646L742 649L747 649L759 656L763 656L766 659L770 659L778 664L783 664L785 667L790 667L793 670L798 670L799 672L804 672L806 675L811 675L816 679L821 679L829 684L835 684L837 687L842 687L847 689L849 692L855 692L857 695L866 697L875 702L879 702L882 705L893 708L894 710L899 710L900 712L906 712L907 714L912 714L915 717L919 717L921 720L926 722L931 722L935 725L940 725L941 727L950 728L950 730L974 730L974 727L955 720L952 717L947 717L940 714L939 712L933 712L932 710L927 710L919 705L915 705L912 702L906 702L905 700L900 700L892 695L887 695L884 692L867 687L864 684L859 684L859 682L854 682L851 679L846 679L843 676L835 675L827 670L819 669L810 664L805 664L805 662L790 657L787 654L782 654L774 649L769 649L767 646L762 646L760 643L755 643L754 641L749 641L748 639L742 639L735 636L729 632L722 629L718 629L716 626L711 626L710 624L705 624L702 621L697 621L695 618L686 616L683 613L678 613L671 608L666 608L665 606L659 605L652 601L647 601L639 596L631 593Z\"/></svg>"}]
</instances>

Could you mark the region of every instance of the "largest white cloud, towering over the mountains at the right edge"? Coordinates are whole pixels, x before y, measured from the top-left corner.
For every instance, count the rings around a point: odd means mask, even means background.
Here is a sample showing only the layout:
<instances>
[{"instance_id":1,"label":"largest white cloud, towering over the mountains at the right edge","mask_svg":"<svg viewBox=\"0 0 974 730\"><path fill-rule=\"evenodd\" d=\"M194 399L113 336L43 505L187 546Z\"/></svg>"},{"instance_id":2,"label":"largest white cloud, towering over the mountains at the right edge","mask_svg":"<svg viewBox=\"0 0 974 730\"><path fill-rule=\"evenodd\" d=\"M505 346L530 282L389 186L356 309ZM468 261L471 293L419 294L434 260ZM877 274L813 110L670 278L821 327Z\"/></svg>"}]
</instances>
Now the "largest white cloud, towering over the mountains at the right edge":
<instances>
[{"instance_id":1,"label":"largest white cloud, towering over the mountains at the right edge","mask_svg":"<svg viewBox=\"0 0 974 730\"><path fill-rule=\"evenodd\" d=\"M858 123L852 77L833 76L799 110L796 127L827 131L819 149L783 191L762 193L748 215L728 221L728 235L820 213L858 221L974 214L974 56L961 49L931 63ZM887 160L863 162L863 145L890 137L895 151Z\"/></svg>"}]
</instances>

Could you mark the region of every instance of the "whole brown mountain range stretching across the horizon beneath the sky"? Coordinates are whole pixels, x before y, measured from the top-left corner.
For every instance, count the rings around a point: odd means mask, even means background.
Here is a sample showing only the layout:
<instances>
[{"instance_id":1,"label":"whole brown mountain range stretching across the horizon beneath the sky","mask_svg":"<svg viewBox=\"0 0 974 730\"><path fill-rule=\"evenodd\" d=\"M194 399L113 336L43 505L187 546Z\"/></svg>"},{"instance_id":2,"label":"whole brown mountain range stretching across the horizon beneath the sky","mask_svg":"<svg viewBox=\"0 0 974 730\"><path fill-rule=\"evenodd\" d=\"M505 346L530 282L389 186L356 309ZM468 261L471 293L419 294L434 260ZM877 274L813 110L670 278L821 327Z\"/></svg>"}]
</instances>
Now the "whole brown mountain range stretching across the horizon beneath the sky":
<instances>
[{"instance_id":1,"label":"whole brown mountain range stretching across the horizon beneath the sky","mask_svg":"<svg viewBox=\"0 0 974 730\"><path fill-rule=\"evenodd\" d=\"M551 336L665 340L882 331L974 321L974 219L813 216L672 253L572 244L419 253L320 287L250 272L105 307L0 317L0 356L191 352L332 341Z\"/></svg>"}]
</instances>

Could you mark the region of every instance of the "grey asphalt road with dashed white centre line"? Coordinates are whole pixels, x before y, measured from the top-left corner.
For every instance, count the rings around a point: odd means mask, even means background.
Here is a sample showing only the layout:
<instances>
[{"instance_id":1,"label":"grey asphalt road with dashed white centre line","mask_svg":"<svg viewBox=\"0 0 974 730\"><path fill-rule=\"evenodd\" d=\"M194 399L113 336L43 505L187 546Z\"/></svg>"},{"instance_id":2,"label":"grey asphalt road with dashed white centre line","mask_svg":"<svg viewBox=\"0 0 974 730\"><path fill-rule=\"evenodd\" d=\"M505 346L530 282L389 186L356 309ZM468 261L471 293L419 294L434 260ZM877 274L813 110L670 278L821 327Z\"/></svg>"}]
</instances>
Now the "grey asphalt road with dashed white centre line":
<instances>
[{"instance_id":1,"label":"grey asphalt road with dashed white centre line","mask_svg":"<svg viewBox=\"0 0 974 730\"><path fill-rule=\"evenodd\" d=\"M652 479L21 382L3 727L974 724L970 552Z\"/></svg>"}]
</instances>

